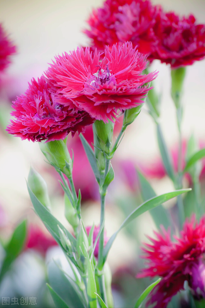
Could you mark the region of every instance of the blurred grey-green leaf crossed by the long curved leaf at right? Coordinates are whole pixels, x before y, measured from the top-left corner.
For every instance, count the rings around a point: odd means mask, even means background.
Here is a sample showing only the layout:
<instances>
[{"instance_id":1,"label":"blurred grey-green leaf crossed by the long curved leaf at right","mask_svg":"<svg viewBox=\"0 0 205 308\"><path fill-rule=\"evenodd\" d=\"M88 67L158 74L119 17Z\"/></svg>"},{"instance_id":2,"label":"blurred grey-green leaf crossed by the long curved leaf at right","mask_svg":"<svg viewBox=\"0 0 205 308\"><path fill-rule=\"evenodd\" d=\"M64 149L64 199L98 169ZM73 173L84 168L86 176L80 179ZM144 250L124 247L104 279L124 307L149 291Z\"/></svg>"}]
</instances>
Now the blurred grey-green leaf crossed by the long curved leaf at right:
<instances>
[{"instance_id":1,"label":"blurred grey-green leaf crossed by the long curved leaf at right","mask_svg":"<svg viewBox=\"0 0 205 308\"><path fill-rule=\"evenodd\" d=\"M137 175L140 181L141 195L143 201L155 197L156 193L150 183L146 180L146 178L139 171L137 171ZM168 226L171 225L168 213L163 207L163 205L159 205L158 207L151 209L150 215L152 216L154 223L158 229L161 224L165 227L165 229L167 229Z\"/></svg>"}]
</instances>

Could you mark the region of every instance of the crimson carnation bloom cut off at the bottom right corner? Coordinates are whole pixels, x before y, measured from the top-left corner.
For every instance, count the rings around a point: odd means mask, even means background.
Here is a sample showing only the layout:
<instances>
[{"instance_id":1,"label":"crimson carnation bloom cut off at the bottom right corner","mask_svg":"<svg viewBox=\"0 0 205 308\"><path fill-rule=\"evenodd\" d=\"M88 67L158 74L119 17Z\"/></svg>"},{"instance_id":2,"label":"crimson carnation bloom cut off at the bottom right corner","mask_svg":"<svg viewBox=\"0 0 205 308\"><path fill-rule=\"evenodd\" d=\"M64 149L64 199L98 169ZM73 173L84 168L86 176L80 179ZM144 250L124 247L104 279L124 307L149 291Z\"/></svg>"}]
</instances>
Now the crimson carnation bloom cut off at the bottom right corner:
<instances>
[{"instance_id":1,"label":"crimson carnation bloom cut off at the bottom right corner","mask_svg":"<svg viewBox=\"0 0 205 308\"><path fill-rule=\"evenodd\" d=\"M150 293L147 305L166 307L172 296L184 290L187 281L196 299L205 298L205 216L199 223L195 215L190 222L185 221L180 237L171 240L170 230L161 227L161 233L155 232L157 239L150 238L152 245L145 244L147 268L137 278L155 276L162 280Z\"/></svg>"}]
</instances>

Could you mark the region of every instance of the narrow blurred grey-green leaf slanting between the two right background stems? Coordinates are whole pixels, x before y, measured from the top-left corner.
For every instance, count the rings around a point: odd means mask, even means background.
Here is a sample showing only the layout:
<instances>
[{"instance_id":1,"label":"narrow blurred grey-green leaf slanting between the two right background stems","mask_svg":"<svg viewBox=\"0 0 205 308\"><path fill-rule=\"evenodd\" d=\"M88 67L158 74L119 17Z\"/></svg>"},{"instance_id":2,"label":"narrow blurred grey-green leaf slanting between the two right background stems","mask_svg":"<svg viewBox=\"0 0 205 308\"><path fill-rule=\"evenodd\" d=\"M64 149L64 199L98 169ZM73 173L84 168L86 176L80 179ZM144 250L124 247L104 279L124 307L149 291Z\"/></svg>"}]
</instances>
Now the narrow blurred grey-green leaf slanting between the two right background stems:
<instances>
[{"instance_id":1,"label":"narrow blurred grey-green leaf slanting between the two right background stems","mask_svg":"<svg viewBox=\"0 0 205 308\"><path fill-rule=\"evenodd\" d=\"M162 135L162 130L159 124L157 124L157 140L158 140L159 150L162 156L162 161L166 169L166 172L168 176L170 177L170 179L174 182L175 176L174 176L174 169L173 169L172 162L171 162L171 157L167 149L164 137Z\"/></svg>"}]
</instances>

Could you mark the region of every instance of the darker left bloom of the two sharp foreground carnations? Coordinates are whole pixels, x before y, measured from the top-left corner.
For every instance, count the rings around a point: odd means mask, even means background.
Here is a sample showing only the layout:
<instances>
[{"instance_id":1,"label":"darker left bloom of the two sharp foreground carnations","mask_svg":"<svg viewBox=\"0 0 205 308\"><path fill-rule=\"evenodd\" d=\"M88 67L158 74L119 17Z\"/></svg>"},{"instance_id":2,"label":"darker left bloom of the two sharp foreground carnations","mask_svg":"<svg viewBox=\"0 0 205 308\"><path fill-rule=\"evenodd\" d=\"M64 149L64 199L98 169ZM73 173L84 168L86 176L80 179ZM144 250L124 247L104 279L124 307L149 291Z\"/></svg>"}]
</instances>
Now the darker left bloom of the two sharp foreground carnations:
<instances>
[{"instance_id":1,"label":"darker left bloom of the two sharp foreground carnations","mask_svg":"<svg viewBox=\"0 0 205 308\"><path fill-rule=\"evenodd\" d=\"M6 131L22 140L32 141L64 139L69 132L81 132L93 119L84 111L63 106L56 102L49 91L48 83L42 76L38 82L33 79L24 95L13 102L15 111Z\"/></svg>"}]
</instances>

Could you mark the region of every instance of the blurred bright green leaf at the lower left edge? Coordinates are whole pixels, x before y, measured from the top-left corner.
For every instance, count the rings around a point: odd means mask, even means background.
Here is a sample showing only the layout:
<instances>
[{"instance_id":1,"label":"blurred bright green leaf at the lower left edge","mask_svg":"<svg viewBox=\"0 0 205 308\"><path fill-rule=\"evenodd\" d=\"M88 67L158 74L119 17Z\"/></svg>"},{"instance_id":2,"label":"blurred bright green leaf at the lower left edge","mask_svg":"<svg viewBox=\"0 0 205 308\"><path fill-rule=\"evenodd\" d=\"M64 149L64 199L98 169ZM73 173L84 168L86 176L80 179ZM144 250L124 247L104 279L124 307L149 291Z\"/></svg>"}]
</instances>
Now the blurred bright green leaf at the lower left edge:
<instances>
[{"instance_id":1,"label":"blurred bright green leaf at the lower left edge","mask_svg":"<svg viewBox=\"0 0 205 308\"><path fill-rule=\"evenodd\" d=\"M14 233L5 247L6 256L2 262L0 281L9 270L12 262L18 257L18 255L23 250L23 246L26 240L27 235L27 222L26 220L22 221L14 230Z\"/></svg>"}]
</instances>

